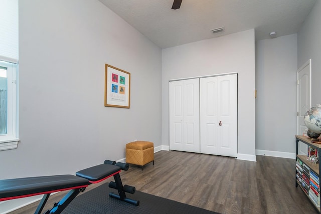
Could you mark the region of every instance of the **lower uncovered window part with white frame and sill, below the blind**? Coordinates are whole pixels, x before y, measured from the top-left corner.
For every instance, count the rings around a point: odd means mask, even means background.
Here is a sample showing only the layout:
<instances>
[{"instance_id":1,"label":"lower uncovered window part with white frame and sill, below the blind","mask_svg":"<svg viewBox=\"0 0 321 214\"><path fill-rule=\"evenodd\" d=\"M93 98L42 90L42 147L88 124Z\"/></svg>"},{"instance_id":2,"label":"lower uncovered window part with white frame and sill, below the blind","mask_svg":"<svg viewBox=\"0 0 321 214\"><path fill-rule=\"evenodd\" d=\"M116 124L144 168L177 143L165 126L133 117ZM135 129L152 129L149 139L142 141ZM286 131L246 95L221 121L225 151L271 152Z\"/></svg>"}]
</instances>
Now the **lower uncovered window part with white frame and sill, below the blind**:
<instances>
[{"instance_id":1,"label":"lower uncovered window part with white frame and sill, below the blind","mask_svg":"<svg viewBox=\"0 0 321 214\"><path fill-rule=\"evenodd\" d=\"M0 150L17 148L17 64L0 61Z\"/></svg>"}]
</instances>

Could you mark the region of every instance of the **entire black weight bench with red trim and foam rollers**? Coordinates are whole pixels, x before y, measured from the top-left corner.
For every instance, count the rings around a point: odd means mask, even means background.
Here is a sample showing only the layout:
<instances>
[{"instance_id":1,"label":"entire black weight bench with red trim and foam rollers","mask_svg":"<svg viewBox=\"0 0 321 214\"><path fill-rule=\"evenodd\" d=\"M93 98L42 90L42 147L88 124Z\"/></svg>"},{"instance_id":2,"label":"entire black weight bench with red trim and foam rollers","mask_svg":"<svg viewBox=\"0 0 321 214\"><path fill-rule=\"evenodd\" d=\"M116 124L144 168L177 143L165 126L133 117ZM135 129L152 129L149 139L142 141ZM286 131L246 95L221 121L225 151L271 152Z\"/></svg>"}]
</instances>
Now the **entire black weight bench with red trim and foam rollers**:
<instances>
[{"instance_id":1,"label":"entire black weight bench with red trim and foam rollers","mask_svg":"<svg viewBox=\"0 0 321 214\"><path fill-rule=\"evenodd\" d=\"M0 201L44 194L35 211L38 214L42 212L52 192L70 190L51 209L44 212L46 214L60 213L88 185L114 176L115 182L111 181L109 187L117 189L118 194L110 192L109 196L137 206L139 205L139 200L127 198L125 194L125 192L133 194L135 187L123 186L119 175L121 169L128 170L128 168L129 165L126 163L105 160L104 164L80 170L76 172L76 175L52 175L0 180Z\"/></svg>"}]
</instances>

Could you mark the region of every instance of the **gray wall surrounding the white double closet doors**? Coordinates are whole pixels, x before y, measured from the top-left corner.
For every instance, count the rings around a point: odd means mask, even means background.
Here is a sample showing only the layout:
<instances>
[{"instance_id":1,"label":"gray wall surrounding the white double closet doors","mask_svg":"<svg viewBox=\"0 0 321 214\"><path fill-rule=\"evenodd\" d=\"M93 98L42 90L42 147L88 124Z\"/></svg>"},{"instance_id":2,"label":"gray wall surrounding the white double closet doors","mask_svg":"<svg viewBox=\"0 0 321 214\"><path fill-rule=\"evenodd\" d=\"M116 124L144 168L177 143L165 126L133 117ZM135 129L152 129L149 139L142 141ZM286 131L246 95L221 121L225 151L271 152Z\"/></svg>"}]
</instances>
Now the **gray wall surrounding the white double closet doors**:
<instances>
[{"instance_id":1,"label":"gray wall surrounding the white double closet doors","mask_svg":"<svg viewBox=\"0 0 321 214\"><path fill-rule=\"evenodd\" d=\"M169 80L238 72L238 158L255 159L254 29L163 49L162 144L169 145Z\"/></svg>"}]
</instances>

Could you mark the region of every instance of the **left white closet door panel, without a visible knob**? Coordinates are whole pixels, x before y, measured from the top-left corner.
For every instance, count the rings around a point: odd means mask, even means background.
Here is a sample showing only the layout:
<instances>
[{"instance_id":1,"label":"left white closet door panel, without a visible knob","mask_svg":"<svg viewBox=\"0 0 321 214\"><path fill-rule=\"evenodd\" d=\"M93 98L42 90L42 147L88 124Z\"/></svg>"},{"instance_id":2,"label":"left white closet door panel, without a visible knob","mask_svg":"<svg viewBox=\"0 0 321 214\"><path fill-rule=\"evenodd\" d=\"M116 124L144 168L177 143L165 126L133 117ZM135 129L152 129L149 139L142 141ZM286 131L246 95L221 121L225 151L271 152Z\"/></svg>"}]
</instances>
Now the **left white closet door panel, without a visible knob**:
<instances>
[{"instance_id":1,"label":"left white closet door panel, without a visible knob","mask_svg":"<svg viewBox=\"0 0 321 214\"><path fill-rule=\"evenodd\" d=\"M170 82L170 149L200 152L199 78Z\"/></svg>"}]
</instances>

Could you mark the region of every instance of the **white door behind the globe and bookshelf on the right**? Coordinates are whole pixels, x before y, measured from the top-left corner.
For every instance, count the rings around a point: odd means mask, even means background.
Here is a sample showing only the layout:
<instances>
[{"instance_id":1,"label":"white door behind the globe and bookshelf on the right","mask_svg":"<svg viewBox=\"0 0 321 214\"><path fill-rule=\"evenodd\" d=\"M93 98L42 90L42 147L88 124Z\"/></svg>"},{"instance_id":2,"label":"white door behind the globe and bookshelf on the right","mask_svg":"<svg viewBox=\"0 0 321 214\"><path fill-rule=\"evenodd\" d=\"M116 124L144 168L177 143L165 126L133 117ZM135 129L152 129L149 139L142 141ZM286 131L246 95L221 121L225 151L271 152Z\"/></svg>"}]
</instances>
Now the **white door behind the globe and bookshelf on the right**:
<instances>
[{"instance_id":1,"label":"white door behind the globe and bookshelf on the right","mask_svg":"<svg viewBox=\"0 0 321 214\"><path fill-rule=\"evenodd\" d=\"M297 70L296 134L306 134L304 114L311 108L311 59ZM307 145L299 143L298 153L307 155Z\"/></svg>"}]
</instances>

